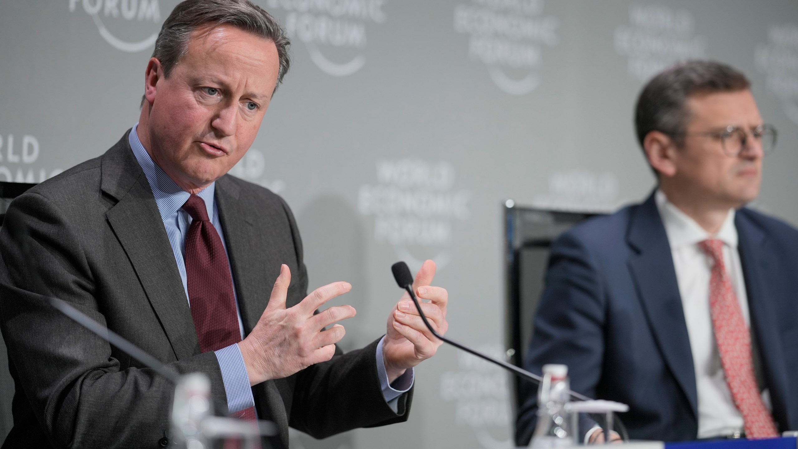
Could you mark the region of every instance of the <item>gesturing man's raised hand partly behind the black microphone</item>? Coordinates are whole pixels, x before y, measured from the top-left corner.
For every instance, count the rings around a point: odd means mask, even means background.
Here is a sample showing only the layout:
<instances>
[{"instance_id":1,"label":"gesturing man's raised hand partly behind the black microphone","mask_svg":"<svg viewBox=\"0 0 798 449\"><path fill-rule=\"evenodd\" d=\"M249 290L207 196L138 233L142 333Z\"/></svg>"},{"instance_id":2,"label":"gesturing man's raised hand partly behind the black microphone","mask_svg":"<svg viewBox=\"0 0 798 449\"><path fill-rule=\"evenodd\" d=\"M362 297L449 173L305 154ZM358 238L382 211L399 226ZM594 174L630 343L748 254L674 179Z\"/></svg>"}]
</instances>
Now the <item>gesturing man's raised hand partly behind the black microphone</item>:
<instances>
[{"instance_id":1,"label":"gesturing man's raised hand partly behind the black microphone","mask_svg":"<svg viewBox=\"0 0 798 449\"><path fill-rule=\"evenodd\" d=\"M416 292L421 310L429 320L429 324L433 326L435 332L443 335L448 329L446 322L448 292L444 288L431 287L429 284L432 284L433 277L435 277L435 262L427 260L416 274L413 292ZM421 300L431 302L423 303ZM408 368L413 368L422 360L434 356L441 344L443 342L433 336L424 325L416 305L405 292L388 317L388 332L382 344L382 356L389 383L405 374Z\"/></svg>"}]
</instances>

